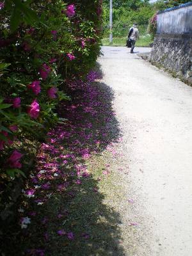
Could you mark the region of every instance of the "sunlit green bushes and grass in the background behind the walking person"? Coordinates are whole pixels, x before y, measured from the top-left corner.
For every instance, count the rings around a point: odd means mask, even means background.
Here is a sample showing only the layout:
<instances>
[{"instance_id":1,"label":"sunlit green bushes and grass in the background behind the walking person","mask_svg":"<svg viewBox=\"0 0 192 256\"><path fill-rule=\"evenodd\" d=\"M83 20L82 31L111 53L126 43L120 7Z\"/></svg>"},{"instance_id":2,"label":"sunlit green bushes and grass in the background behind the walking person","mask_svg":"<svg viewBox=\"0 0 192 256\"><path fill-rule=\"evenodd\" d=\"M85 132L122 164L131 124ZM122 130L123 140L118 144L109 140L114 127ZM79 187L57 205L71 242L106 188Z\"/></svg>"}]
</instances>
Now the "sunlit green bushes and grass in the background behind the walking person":
<instances>
[{"instance_id":1,"label":"sunlit green bushes and grass in the background behind the walking person","mask_svg":"<svg viewBox=\"0 0 192 256\"><path fill-rule=\"evenodd\" d=\"M137 46L149 46L156 34L157 16L159 10L188 3L188 0L159 0L150 4L148 0L116 0L113 1L113 46L126 44L128 31L137 22L140 40ZM109 44L109 1L103 1L103 39L102 45Z\"/></svg>"}]
</instances>

